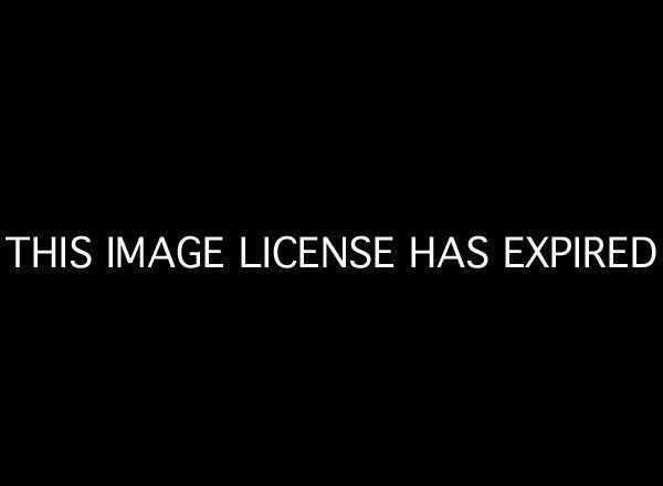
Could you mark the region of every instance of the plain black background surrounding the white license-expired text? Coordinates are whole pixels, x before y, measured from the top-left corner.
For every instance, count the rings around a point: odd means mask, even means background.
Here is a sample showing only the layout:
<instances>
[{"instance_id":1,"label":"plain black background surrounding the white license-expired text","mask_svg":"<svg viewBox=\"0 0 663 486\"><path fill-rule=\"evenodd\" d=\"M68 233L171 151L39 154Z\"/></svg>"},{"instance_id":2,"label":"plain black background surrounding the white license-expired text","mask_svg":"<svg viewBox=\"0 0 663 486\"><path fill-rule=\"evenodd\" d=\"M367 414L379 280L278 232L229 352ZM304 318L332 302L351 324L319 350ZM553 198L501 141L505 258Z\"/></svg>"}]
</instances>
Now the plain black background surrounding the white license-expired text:
<instances>
[{"instance_id":1,"label":"plain black background surrounding the white license-expired text","mask_svg":"<svg viewBox=\"0 0 663 486\"><path fill-rule=\"evenodd\" d=\"M654 32L596 12L273 13L33 12L3 61L2 235L393 234L399 268L6 265L13 456L632 474L656 430L660 263L508 272L501 241L660 244ZM486 271L407 270L410 235L473 234Z\"/></svg>"}]
</instances>

